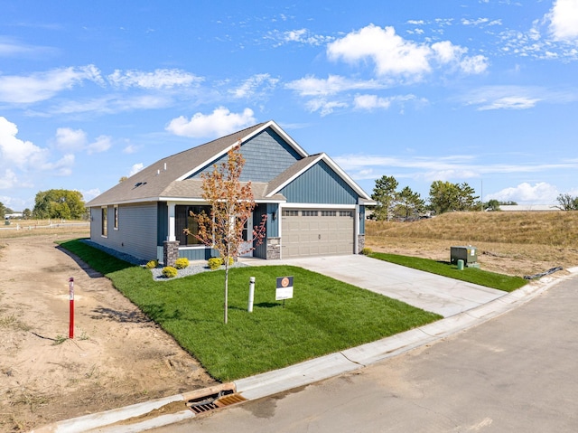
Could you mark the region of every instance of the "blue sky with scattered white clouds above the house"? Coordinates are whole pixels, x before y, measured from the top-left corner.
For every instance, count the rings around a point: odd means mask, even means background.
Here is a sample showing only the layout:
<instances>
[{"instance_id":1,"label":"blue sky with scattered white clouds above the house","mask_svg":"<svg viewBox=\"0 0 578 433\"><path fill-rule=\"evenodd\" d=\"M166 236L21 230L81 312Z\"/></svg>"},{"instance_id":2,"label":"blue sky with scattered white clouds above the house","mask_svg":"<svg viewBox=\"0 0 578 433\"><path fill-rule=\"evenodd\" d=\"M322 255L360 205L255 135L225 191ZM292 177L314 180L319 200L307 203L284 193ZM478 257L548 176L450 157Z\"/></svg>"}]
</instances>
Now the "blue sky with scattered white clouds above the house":
<instances>
[{"instance_id":1,"label":"blue sky with scattered white clouds above the house","mask_svg":"<svg viewBox=\"0 0 578 433\"><path fill-rule=\"evenodd\" d=\"M578 0L0 0L0 202L275 120L366 192L578 195Z\"/></svg>"}]
</instances>

